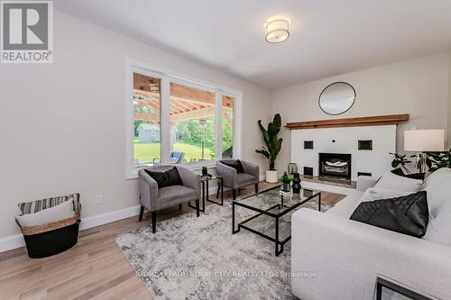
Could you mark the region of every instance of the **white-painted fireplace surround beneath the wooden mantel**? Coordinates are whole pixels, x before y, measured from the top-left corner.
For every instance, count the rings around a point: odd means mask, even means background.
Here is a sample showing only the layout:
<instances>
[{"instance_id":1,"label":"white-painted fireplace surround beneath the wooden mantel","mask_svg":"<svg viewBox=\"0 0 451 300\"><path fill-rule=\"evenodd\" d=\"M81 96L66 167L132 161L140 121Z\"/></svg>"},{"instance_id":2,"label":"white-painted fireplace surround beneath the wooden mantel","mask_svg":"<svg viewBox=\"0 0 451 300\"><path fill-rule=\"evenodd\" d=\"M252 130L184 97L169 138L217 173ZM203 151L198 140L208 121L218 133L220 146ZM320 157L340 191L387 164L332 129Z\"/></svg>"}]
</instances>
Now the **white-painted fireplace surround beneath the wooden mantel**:
<instances>
[{"instance_id":1,"label":"white-painted fireplace surround beneath the wooden mantel","mask_svg":"<svg viewBox=\"0 0 451 300\"><path fill-rule=\"evenodd\" d=\"M358 141L373 141L373 150L358 150ZM313 141L313 149L304 149L304 141ZM351 180L358 172L381 176L391 170L391 154L396 150L396 125L303 129L291 131L291 161L313 168L318 176L318 153L351 154Z\"/></svg>"}]
</instances>

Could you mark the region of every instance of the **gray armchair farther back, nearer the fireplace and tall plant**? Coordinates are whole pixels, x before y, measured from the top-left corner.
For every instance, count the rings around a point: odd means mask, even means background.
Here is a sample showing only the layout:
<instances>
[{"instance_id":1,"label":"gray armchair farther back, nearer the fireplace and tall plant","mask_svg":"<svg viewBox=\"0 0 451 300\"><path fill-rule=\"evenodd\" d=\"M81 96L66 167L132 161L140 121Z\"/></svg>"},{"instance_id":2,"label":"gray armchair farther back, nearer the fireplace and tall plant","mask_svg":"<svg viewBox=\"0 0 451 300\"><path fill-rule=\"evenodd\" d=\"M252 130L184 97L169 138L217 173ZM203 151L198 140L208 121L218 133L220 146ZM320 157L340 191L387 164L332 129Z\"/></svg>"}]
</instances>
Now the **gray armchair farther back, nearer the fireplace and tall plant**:
<instances>
[{"instance_id":1,"label":"gray armchair farther back, nearer the fireplace and tall plant","mask_svg":"<svg viewBox=\"0 0 451 300\"><path fill-rule=\"evenodd\" d=\"M234 200L236 199L236 190L240 187L255 185L255 193L258 193L258 183L260 171L258 166L250 162L240 160L244 168L244 173L238 173L235 168L226 166L223 161L233 163L236 159L223 159L216 161L217 176L223 177L223 185L232 188Z\"/></svg>"}]
</instances>

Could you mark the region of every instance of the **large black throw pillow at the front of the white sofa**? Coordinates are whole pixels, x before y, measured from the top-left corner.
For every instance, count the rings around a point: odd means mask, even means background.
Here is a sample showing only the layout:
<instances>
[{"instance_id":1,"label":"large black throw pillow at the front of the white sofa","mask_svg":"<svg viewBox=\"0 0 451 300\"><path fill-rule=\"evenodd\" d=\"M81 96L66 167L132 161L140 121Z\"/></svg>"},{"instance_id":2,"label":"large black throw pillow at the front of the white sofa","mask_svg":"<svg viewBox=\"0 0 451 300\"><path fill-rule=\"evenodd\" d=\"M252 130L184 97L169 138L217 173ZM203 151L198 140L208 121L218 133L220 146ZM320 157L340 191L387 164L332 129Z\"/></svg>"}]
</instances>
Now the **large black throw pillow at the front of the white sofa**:
<instances>
[{"instance_id":1,"label":"large black throw pillow at the front of the white sofa","mask_svg":"<svg viewBox=\"0 0 451 300\"><path fill-rule=\"evenodd\" d=\"M426 191L362 202L350 219L421 238L425 235L429 222Z\"/></svg>"}]
</instances>

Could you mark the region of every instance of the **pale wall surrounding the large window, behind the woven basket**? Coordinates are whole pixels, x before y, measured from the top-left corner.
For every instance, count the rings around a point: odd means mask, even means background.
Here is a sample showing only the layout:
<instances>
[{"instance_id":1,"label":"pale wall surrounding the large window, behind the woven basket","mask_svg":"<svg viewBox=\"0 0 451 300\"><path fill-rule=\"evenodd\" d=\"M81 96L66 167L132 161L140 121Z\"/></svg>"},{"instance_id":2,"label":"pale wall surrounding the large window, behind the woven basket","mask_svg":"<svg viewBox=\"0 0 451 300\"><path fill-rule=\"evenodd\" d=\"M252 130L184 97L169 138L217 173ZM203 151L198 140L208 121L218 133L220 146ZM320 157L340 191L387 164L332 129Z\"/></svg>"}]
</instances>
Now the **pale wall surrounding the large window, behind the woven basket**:
<instances>
[{"instance_id":1,"label":"pale wall surrounding the large window, behind the woven basket","mask_svg":"<svg viewBox=\"0 0 451 300\"><path fill-rule=\"evenodd\" d=\"M269 90L58 11L54 44L53 64L0 66L0 238L19 232L23 201L79 192L83 217L138 205L137 180L125 180L125 58L242 91L243 159L264 172L254 149Z\"/></svg>"}]
</instances>

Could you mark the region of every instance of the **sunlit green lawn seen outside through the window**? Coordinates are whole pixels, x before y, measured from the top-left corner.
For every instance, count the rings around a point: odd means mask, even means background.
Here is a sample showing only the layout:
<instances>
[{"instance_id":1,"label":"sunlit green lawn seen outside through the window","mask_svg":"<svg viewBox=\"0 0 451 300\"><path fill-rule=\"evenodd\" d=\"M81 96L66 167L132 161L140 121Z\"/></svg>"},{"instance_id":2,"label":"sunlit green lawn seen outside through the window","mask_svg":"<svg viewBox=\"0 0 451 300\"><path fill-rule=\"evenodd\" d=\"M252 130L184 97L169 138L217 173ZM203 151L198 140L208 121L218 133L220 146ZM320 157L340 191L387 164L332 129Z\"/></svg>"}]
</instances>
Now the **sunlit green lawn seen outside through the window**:
<instances>
[{"instance_id":1,"label":"sunlit green lawn seen outside through the window","mask_svg":"<svg viewBox=\"0 0 451 300\"><path fill-rule=\"evenodd\" d=\"M202 158L202 148L196 145L174 143L174 151L185 152L185 161ZM160 143L142 143L134 139L134 159L140 162L152 162L160 158ZM205 150L205 158L210 159L210 150Z\"/></svg>"}]
</instances>

